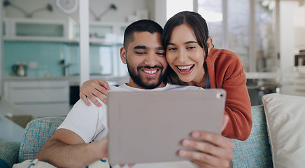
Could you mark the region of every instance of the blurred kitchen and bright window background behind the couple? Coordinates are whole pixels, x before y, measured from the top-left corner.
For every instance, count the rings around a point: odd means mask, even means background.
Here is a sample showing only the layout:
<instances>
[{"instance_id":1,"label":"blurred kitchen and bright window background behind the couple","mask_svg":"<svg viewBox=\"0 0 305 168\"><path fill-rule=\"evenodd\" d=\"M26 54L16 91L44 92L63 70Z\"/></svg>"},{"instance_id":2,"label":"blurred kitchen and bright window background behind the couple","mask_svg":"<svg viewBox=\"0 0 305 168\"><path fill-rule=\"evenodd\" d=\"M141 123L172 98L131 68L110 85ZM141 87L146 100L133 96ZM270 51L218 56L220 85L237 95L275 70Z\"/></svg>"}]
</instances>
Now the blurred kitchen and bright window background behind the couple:
<instances>
[{"instance_id":1,"label":"blurred kitchen and bright window background behind the couple","mask_svg":"<svg viewBox=\"0 0 305 168\"><path fill-rule=\"evenodd\" d=\"M0 115L21 127L33 118L66 116L79 99L82 75L125 83L129 77L119 51L127 25L150 19L164 26L181 10L200 13L215 48L239 55L252 105L272 92L305 96L304 2L90 0L85 18L89 48L82 55L83 2L1 0ZM89 72L80 69L82 64Z\"/></svg>"}]
</instances>

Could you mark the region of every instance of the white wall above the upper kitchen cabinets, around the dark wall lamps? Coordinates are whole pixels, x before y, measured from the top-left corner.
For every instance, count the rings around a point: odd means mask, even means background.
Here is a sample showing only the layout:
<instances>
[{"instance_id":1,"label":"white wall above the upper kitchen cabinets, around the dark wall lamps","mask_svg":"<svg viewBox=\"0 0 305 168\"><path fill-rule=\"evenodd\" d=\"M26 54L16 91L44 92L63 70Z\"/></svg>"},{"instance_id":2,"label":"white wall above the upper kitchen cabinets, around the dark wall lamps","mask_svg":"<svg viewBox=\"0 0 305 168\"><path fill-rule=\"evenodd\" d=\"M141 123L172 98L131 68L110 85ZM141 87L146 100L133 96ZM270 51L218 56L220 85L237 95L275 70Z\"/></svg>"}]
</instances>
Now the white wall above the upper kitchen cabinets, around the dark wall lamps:
<instances>
[{"instance_id":1,"label":"white wall above the upper kitchen cabinets, around the dark wall lamps","mask_svg":"<svg viewBox=\"0 0 305 168\"><path fill-rule=\"evenodd\" d=\"M2 0L3 1L3 0ZM14 3L17 6L24 8L28 13L36 10L37 8L42 8L47 5L47 3L52 4L53 12L41 11L33 15L33 18L43 18L43 19L62 19L66 20L68 17L66 14L60 12L55 4L55 0L10 0L11 3ZM149 2L149 3L148 3ZM153 11L155 6L152 6L151 0L90 0L90 8L100 15L103 13L110 5L114 3L117 7L117 10L109 10L102 18L101 22L126 22L129 15L135 15L136 10L148 9L148 11ZM2 3L1 3L2 5ZM5 7L2 11L3 17L10 18L24 18L24 14L19 10L12 8L10 6ZM71 18L78 21L79 11L76 10L75 13L70 14ZM94 16L90 13L90 21L95 21Z\"/></svg>"}]
</instances>

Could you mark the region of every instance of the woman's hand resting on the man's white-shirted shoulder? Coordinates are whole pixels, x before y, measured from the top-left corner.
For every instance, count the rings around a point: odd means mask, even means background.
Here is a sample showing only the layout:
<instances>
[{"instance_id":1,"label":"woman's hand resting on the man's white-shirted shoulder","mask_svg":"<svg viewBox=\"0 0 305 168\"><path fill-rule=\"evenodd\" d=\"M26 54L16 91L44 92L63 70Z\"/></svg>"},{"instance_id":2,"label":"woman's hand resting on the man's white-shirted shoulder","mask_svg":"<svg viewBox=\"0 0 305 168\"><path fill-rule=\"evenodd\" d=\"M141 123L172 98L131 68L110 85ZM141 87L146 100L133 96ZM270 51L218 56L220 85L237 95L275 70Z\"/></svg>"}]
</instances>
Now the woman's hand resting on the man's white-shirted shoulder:
<instances>
[{"instance_id":1,"label":"woman's hand resting on the man's white-shirted shoulder","mask_svg":"<svg viewBox=\"0 0 305 168\"><path fill-rule=\"evenodd\" d=\"M98 97L101 102L106 104L106 95L108 94L110 87L104 80L87 80L80 87L80 99L82 99L87 106L90 106L90 102L87 97L97 106L101 106L96 97Z\"/></svg>"}]
</instances>

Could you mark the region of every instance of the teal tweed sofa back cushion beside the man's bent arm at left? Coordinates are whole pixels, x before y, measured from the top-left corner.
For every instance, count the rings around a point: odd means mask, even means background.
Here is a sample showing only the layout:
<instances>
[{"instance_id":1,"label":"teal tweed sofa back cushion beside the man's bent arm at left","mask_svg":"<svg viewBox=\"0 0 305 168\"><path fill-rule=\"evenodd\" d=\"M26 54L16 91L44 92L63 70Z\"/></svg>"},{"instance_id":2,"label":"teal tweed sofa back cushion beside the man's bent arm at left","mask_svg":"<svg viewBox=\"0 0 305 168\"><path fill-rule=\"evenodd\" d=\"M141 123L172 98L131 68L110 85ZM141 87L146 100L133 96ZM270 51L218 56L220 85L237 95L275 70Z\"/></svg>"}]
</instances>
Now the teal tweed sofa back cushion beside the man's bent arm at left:
<instances>
[{"instance_id":1,"label":"teal tweed sofa back cushion beside the man's bent arm at left","mask_svg":"<svg viewBox=\"0 0 305 168\"><path fill-rule=\"evenodd\" d=\"M45 144L57 127L64 121L64 117L47 117L31 120L25 127L20 145L19 162L32 160L39 149Z\"/></svg>"}]
</instances>

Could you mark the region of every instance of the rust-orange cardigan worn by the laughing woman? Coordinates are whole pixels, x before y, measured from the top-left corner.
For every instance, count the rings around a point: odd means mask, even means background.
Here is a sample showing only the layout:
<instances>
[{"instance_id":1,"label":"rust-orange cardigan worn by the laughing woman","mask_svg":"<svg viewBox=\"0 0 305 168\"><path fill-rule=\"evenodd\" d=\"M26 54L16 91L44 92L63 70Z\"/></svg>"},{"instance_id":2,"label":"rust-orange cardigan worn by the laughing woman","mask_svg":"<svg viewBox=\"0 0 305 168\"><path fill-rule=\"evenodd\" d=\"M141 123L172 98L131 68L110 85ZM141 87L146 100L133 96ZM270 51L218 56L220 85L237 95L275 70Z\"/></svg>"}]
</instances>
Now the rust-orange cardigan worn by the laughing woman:
<instances>
[{"instance_id":1,"label":"rust-orange cardigan worn by the laughing woman","mask_svg":"<svg viewBox=\"0 0 305 168\"><path fill-rule=\"evenodd\" d=\"M211 88L223 88L227 92L225 113L230 120L222 135L242 141L248 139L252 129L251 104L241 59L229 50L212 48L206 67Z\"/></svg>"}]
</instances>

